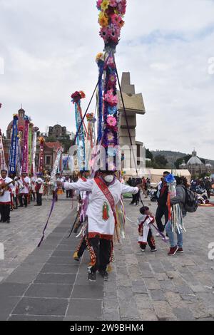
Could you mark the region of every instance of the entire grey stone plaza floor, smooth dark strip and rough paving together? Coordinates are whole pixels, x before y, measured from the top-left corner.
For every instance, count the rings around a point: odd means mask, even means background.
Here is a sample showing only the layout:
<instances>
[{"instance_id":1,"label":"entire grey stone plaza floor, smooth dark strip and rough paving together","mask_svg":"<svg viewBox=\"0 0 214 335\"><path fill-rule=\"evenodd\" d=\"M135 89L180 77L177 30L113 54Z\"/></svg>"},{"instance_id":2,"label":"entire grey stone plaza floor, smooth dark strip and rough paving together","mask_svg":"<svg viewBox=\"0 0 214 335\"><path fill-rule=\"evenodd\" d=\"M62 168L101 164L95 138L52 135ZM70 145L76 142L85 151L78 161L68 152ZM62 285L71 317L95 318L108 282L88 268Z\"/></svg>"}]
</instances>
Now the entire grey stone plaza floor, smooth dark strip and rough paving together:
<instances>
[{"instance_id":1,"label":"entire grey stone plaza floor, smooth dark strip and rough paving together","mask_svg":"<svg viewBox=\"0 0 214 335\"><path fill-rule=\"evenodd\" d=\"M108 282L87 281L88 252L81 264L71 255L77 240L67 239L75 209L61 199L46 239L36 248L50 202L11 213L1 225L6 259L0 260L1 320L208 320L214 317L214 207L198 208L185 220L184 254L168 257L168 244L156 237L158 251L142 253L136 219L139 207L126 200L126 239L115 246ZM156 204L146 200L155 212ZM16 217L16 222L14 222Z\"/></svg>"}]
</instances>

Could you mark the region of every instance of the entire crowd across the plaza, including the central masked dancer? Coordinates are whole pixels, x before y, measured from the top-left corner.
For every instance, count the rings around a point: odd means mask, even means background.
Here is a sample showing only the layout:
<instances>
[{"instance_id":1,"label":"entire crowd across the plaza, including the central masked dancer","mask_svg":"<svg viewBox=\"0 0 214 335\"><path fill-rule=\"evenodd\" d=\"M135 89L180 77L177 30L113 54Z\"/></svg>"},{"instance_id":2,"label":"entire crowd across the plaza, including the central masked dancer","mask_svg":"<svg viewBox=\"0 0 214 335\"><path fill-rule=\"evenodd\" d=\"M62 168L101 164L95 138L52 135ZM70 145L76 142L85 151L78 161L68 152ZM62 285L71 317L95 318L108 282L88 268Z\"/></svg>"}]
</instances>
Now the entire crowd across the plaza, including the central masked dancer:
<instances>
[{"instance_id":1,"label":"entire crowd across the plaza, including the central masked dancer","mask_svg":"<svg viewBox=\"0 0 214 335\"><path fill-rule=\"evenodd\" d=\"M175 182L173 197L169 197L170 188L168 177ZM51 175L46 172L40 173L37 177L21 173L21 177L11 175L8 177L6 170L1 170L0 177L0 213L1 222L10 222L10 211L19 207L27 207L29 202L36 202L35 206L42 205L42 196L52 194L57 201L58 190L66 192L67 198L72 198L74 192L78 195L78 227L82 227L81 242L78 244L73 254L73 259L79 261L85 249L91 255L91 263L88 266L88 280L96 281L96 272L108 278L107 267L112 259L113 235L116 227L116 204L121 200L121 195L131 193L133 199L131 205L138 205L141 200L141 192L148 197L148 190L151 188L149 178L129 178L119 181L114 171L99 171L94 177L90 177L90 172L82 171L78 178L56 174L56 185L49 187ZM198 182L188 182L185 177L174 177L170 172L165 171L161 182L158 183L156 215L151 213L149 207L140 208L138 217L138 243L141 251L145 252L146 245L151 248L151 252L156 252L156 242L153 229L157 230L156 237L169 240L170 249L168 255L183 253L183 231L175 229L172 224L171 215L178 212L178 220L182 222L187 214L185 207L186 190L197 187ZM201 181L200 181L201 185ZM204 180L206 190L212 188L211 180ZM191 191L190 191L191 192ZM193 193L194 194L194 193ZM173 214L172 214L173 213ZM180 225L180 224L179 224ZM175 241L175 234L177 241Z\"/></svg>"}]
</instances>

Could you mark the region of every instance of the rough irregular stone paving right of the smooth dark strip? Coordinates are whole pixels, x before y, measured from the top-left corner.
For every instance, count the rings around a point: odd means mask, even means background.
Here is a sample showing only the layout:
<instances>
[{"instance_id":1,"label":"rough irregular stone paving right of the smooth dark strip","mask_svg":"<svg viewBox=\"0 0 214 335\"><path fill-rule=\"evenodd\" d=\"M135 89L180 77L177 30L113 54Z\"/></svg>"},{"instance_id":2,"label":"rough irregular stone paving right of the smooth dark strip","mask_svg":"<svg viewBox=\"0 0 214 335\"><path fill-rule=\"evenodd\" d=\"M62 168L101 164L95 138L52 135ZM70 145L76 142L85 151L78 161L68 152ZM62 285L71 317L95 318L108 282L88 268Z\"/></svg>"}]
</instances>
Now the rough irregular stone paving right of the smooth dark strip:
<instances>
[{"instance_id":1,"label":"rough irregular stone paving right of the smooth dark strip","mask_svg":"<svg viewBox=\"0 0 214 335\"><path fill-rule=\"evenodd\" d=\"M144 200L156 212L156 203ZM107 320L214 319L214 207L199 207L185 219L184 254L167 255L168 244L156 237L157 252L138 247L139 208L128 205L126 239L115 247L116 262L104 286L103 317ZM213 252L214 256L214 252Z\"/></svg>"}]
</instances>

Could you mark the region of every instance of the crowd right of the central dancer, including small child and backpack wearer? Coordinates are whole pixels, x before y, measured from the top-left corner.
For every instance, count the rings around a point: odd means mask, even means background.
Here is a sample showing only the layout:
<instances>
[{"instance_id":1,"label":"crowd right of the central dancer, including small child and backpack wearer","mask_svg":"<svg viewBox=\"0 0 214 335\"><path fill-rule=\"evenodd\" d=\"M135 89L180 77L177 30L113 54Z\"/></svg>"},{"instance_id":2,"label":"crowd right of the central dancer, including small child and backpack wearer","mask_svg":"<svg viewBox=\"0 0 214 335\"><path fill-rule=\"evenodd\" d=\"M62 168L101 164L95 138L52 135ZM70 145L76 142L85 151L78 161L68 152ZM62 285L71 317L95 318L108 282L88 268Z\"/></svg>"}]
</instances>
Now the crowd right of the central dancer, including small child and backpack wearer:
<instances>
[{"instance_id":1,"label":"crowd right of the central dancer, including small child and backpack wearer","mask_svg":"<svg viewBox=\"0 0 214 335\"><path fill-rule=\"evenodd\" d=\"M141 247L141 251L145 251L146 244L151 247L151 252L156 251L156 242L154 238L154 229L158 228L156 237L162 237L163 240L169 240L170 249L168 255L173 256L176 253L183 253L183 231L179 229L173 229L171 212L173 212L175 205L178 205L180 209L180 220L183 221L183 218L187 215L187 210L185 208L185 202L187 201L187 190L193 192L192 197L194 200L194 193L197 192L198 187L202 188L203 191L206 191L208 198L213 190L214 180L209 177L203 179L192 180L190 185L186 177L174 177L176 182L175 196L170 197L169 200L169 187L167 182L167 176L170 175L170 172L163 172L163 177L161 181L158 182L156 187L156 200L158 207L156 209L156 215L152 215L148 207L141 207L140 213L141 216L138 218L138 242ZM138 180L138 183L140 180ZM136 178L129 178L128 184L135 185ZM151 180L149 178L143 177L141 180L141 189L143 194L152 188ZM141 196L140 191L138 192L138 198ZM196 199L196 198L195 198ZM138 205L136 201L136 195L133 196L133 200L130 205ZM154 223L156 222L156 226ZM177 242L175 242L175 236L177 235Z\"/></svg>"}]
</instances>

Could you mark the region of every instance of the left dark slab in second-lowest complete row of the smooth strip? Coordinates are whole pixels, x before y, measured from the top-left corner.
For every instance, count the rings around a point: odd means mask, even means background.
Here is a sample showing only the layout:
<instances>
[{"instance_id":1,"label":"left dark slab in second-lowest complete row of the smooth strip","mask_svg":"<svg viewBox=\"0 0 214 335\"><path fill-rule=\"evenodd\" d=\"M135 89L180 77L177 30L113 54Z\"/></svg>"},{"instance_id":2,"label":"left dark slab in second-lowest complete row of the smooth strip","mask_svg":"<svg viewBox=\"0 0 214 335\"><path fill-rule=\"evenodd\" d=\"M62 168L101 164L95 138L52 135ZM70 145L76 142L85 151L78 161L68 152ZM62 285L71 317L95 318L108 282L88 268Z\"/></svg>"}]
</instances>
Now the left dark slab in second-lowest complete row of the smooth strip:
<instances>
[{"instance_id":1,"label":"left dark slab in second-lowest complete row of the smooth strip","mask_svg":"<svg viewBox=\"0 0 214 335\"><path fill-rule=\"evenodd\" d=\"M24 297L70 298L72 289L68 284L31 284Z\"/></svg>"}]
</instances>

